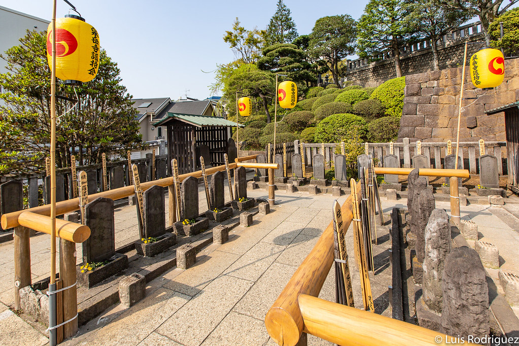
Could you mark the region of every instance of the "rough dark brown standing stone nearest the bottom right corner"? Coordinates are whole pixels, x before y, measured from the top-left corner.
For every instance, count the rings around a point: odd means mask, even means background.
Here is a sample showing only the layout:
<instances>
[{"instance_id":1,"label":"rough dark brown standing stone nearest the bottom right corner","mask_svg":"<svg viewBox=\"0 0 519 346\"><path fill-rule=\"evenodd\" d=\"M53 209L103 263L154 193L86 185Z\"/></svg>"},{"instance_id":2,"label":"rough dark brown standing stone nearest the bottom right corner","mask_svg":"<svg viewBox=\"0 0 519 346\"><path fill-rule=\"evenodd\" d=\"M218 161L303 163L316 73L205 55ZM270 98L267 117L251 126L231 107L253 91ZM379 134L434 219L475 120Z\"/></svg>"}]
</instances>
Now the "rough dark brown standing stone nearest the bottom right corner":
<instances>
[{"instance_id":1,"label":"rough dark brown standing stone nearest the bottom right corner","mask_svg":"<svg viewBox=\"0 0 519 346\"><path fill-rule=\"evenodd\" d=\"M442 328L448 335L481 338L489 335L486 271L477 252L455 247L445 259L442 276Z\"/></svg>"}]
</instances>

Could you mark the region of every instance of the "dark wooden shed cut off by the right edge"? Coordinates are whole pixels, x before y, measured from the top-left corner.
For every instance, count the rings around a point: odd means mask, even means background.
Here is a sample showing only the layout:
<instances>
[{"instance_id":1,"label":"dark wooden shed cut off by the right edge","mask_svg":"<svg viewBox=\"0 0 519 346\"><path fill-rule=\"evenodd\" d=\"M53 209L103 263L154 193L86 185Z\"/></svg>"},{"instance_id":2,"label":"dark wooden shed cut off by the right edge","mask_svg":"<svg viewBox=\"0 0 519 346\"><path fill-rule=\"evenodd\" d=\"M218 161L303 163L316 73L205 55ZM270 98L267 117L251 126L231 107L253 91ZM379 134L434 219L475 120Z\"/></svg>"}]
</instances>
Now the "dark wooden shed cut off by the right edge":
<instances>
[{"instance_id":1,"label":"dark wooden shed cut off by the right edge","mask_svg":"<svg viewBox=\"0 0 519 346\"><path fill-rule=\"evenodd\" d=\"M508 188L519 193L519 101L490 109L487 115L504 112L507 135Z\"/></svg>"}]
</instances>

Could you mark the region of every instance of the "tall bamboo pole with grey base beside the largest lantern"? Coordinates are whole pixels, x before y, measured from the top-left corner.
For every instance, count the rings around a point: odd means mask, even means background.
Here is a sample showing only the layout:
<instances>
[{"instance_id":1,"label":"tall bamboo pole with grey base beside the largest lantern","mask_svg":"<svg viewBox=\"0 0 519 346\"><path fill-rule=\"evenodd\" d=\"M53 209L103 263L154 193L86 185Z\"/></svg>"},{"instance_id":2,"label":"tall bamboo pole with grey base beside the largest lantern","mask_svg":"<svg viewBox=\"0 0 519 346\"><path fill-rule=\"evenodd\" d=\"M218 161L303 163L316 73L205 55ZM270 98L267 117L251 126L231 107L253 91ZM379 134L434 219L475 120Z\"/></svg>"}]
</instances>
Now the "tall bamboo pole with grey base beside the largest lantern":
<instances>
[{"instance_id":1,"label":"tall bamboo pole with grey base beside the largest lantern","mask_svg":"<svg viewBox=\"0 0 519 346\"><path fill-rule=\"evenodd\" d=\"M52 64L50 73L50 284L49 284L49 343L58 343L56 313L56 0L52 1Z\"/></svg>"}]
</instances>

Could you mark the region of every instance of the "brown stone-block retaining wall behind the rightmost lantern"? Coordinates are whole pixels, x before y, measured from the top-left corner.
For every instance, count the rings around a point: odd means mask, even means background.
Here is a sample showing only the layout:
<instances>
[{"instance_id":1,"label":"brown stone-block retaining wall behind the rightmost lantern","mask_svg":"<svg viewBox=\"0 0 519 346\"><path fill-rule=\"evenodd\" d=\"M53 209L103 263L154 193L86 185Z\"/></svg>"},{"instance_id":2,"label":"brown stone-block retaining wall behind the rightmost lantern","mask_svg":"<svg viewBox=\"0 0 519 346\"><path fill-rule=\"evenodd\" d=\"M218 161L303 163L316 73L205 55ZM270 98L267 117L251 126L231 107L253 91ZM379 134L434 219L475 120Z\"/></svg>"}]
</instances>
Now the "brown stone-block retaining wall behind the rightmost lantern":
<instances>
[{"instance_id":1,"label":"brown stone-block retaining wall behind the rightmost lantern","mask_svg":"<svg viewBox=\"0 0 519 346\"><path fill-rule=\"evenodd\" d=\"M460 142L505 141L504 115L485 112L519 101L519 59L505 61L504 81L493 90L476 89L465 74ZM429 71L405 77L404 107L399 141L456 141L462 67ZM467 99L475 98L476 99Z\"/></svg>"}]
</instances>

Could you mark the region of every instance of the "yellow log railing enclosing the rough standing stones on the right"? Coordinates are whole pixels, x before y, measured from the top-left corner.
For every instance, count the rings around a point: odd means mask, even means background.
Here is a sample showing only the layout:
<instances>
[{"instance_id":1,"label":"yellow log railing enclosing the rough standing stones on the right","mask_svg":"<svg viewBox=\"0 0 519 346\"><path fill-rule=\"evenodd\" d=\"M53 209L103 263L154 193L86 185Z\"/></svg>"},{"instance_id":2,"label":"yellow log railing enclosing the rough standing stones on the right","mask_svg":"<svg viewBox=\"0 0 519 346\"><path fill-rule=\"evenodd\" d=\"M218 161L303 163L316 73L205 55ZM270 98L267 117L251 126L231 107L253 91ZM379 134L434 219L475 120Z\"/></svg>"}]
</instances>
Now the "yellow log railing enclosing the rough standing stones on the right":
<instances>
[{"instance_id":1,"label":"yellow log railing enclosing the rough standing stones on the right","mask_svg":"<svg viewBox=\"0 0 519 346\"><path fill-rule=\"evenodd\" d=\"M385 169L386 174L408 174L408 169ZM407 172L407 173L406 173ZM467 170L419 170L422 176L452 176L451 186L457 177L468 177ZM357 184L360 195L360 183ZM459 199L453 195L458 205ZM360 196L358 196L360 199ZM341 207L344 228L352 221L352 196ZM459 216L458 216L459 217ZM405 323L367 311L350 308L316 298L333 264L333 222L323 231L292 278L286 284L265 316L268 334L279 345L296 345L303 333L312 334L340 345L444 345L447 336L433 330ZM449 339L450 340L450 339Z\"/></svg>"}]
</instances>

